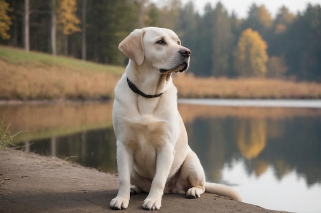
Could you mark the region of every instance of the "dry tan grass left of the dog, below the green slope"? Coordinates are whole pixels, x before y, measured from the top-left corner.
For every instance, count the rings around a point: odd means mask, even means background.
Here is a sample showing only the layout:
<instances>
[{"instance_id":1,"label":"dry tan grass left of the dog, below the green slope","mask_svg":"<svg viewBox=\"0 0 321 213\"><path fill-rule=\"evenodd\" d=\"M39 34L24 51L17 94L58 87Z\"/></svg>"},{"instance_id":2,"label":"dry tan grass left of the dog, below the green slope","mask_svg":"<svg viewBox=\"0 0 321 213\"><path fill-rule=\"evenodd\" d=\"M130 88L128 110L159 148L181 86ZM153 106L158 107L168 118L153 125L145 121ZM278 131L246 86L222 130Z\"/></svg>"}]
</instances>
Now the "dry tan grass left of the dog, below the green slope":
<instances>
[{"instance_id":1,"label":"dry tan grass left of the dog, below the green slope","mask_svg":"<svg viewBox=\"0 0 321 213\"><path fill-rule=\"evenodd\" d=\"M0 99L111 99L119 76L44 63L12 65L0 59Z\"/></svg>"}]
</instances>

